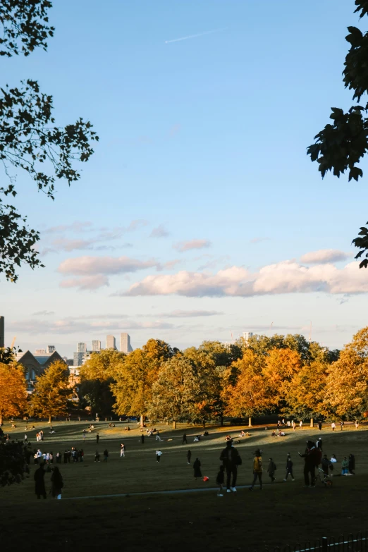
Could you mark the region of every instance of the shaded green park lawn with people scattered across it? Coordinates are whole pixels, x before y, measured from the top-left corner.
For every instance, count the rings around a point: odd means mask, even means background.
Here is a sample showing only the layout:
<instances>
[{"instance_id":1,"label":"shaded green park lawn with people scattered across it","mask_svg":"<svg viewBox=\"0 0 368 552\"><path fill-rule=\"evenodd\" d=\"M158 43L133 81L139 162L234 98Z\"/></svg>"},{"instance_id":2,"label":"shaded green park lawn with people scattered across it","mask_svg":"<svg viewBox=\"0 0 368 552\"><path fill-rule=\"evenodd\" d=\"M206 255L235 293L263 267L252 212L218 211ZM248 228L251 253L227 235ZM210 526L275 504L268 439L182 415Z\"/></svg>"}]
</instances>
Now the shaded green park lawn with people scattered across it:
<instances>
[{"instance_id":1,"label":"shaded green park lawn with people scattered across it","mask_svg":"<svg viewBox=\"0 0 368 552\"><path fill-rule=\"evenodd\" d=\"M286 437L271 437L271 431L253 428L237 448L243 459L239 469L238 492L216 496L216 473L219 455L225 446L225 435L238 435L236 428L210 427L209 436L194 443L200 429L159 427L164 441L156 438L140 443L140 431L124 432L125 424L109 428L106 422L97 424L100 441L95 434L82 439L83 422L55 423L57 433L49 435L47 424L35 424L44 429L45 439L39 443L42 451L63 453L75 446L85 451L85 461L61 464L64 479L63 499L47 498L37 501L33 473L19 485L0 489L2 517L1 544L7 549L25 550L30 546L52 546L53 551L101 549L141 551L202 550L262 550L264 546L295 544L320 536L358 532L367 527L366 502L368 491L368 427L346 427L343 431L310 429L305 427L287 431ZM133 427L133 424L130 424ZM134 426L136 427L136 426ZM11 431L12 438L23 438L22 425ZM35 432L27 431L35 443ZM18 433L17 433L18 431ZM182 445L183 431L188 446ZM298 451L305 449L307 438L321 436L324 452L335 453L339 463L344 455L356 458L355 477L334 477L331 489L321 484L315 489L303 488L303 460ZM125 458L120 458L120 443L125 443ZM35 443L36 444L36 443ZM264 491L256 487L249 492L243 485L252 481L252 458L255 448L263 450L264 465L271 456L277 465L276 482L264 473ZM94 462L94 451L109 450L108 462ZM156 462L156 450L161 448L161 462ZM200 458L202 474L209 482L195 481L192 465L187 464L186 453L192 451L192 462ZM295 482L283 482L286 454L294 461ZM50 474L47 474L49 489ZM205 492L157 493L206 489ZM136 495L135 493L147 493ZM109 498L80 498L101 497ZM123 495L123 496L114 496ZM4 525L4 522L5 525ZM39 528L39 529L37 529ZM14 539L18 545L15 547ZM19 544L20 543L20 544ZM22 544L23 543L23 544ZM24 548L22 548L24 546ZM10 548L9 548L10 547Z\"/></svg>"}]
</instances>

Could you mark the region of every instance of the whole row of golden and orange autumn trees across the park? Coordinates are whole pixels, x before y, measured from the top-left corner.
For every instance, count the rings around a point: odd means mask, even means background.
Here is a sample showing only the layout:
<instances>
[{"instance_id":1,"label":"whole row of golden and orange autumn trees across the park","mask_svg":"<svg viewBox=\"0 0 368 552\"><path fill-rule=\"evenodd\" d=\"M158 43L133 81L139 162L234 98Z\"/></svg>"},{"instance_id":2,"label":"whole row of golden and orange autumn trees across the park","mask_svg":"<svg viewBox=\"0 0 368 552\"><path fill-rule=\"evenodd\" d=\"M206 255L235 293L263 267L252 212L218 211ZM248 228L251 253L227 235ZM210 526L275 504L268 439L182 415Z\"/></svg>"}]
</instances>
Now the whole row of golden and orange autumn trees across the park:
<instances>
[{"instance_id":1,"label":"whole row of golden and orange autumn trees across the park","mask_svg":"<svg viewBox=\"0 0 368 552\"><path fill-rule=\"evenodd\" d=\"M183 351L150 339L128 355L94 353L80 369L78 407L152 421L222 423L223 417L360 419L368 410L368 327L343 350L301 335L204 341ZM60 417L75 406L68 369L54 362L27 395L24 369L0 363L0 422L25 413Z\"/></svg>"}]
</instances>

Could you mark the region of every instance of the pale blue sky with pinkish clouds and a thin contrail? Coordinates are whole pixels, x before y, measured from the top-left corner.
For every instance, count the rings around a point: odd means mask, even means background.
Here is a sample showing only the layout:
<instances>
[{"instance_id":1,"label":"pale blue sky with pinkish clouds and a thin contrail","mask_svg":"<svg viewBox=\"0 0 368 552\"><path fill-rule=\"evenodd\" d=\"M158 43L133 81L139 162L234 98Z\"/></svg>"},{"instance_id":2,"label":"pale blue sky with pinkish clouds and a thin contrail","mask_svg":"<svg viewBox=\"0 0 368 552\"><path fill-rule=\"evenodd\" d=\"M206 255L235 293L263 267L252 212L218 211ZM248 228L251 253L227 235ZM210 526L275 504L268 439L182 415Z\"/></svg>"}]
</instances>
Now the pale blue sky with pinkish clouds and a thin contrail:
<instances>
[{"instance_id":1,"label":"pale blue sky with pinkish clouds and a thin contrail","mask_svg":"<svg viewBox=\"0 0 368 552\"><path fill-rule=\"evenodd\" d=\"M311 321L325 345L350 341L367 323L350 245L367 186L322 181L306 148L352 104L353 0L54 4L48 52L1 59L1 83L38 80L56 121L90 119L100 142L54 202L18 173L47 267L1 278L7 341L71 355L120 331L185 347Z\"/></svg>"}]
</instances>

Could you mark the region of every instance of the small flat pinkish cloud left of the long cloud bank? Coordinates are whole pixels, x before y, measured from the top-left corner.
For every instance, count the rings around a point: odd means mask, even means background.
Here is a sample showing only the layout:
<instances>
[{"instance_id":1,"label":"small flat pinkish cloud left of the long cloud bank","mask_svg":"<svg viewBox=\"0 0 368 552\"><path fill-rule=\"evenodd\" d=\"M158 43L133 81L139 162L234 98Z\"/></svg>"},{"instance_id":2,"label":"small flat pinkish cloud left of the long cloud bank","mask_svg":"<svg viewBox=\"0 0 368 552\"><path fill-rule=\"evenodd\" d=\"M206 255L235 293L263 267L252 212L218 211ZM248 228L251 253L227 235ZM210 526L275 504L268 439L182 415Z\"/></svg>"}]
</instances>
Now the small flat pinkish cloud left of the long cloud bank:
<instances>
[{"instance_id":1,"label":"small flat pinkish cloud left of the long cloud bank","mask_svg":"<svg viewBox=\"0 0 368 552\"><path fill-rule=\"evenodd\" d=\"M157 261L139 261L130 257L76 257L66 259L59 265L61 274L75 274L77 276L91 276L92 274L122 274L136 272L157 266Z\"/></svg>"}]
</instances>

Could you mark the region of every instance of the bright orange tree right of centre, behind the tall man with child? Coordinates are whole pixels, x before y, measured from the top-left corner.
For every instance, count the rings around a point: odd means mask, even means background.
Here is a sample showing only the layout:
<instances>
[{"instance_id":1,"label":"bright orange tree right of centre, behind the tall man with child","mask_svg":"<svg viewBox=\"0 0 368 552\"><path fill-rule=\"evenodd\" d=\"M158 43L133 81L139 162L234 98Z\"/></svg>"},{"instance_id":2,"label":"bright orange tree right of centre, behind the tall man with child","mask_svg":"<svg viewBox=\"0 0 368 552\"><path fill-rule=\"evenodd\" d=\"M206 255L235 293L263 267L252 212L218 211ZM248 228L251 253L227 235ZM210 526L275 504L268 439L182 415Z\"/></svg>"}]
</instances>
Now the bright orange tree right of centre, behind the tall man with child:
<instances>
[{"instance_id":1,"label":"bright orange tree right of centre, behind the tall man with child","mask_svg":"<svg viewBox=\"0 0 368 552\"><path fill-rule=\"evenodd\" d=\"M252 349L245 350L241 359L228 367L224 374L223 401L226 415L252 417L262 415L271 402L266 393L262 368L264 357Z\"/></svg>"}]
</instances>

